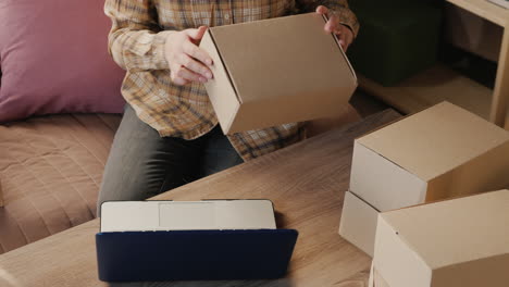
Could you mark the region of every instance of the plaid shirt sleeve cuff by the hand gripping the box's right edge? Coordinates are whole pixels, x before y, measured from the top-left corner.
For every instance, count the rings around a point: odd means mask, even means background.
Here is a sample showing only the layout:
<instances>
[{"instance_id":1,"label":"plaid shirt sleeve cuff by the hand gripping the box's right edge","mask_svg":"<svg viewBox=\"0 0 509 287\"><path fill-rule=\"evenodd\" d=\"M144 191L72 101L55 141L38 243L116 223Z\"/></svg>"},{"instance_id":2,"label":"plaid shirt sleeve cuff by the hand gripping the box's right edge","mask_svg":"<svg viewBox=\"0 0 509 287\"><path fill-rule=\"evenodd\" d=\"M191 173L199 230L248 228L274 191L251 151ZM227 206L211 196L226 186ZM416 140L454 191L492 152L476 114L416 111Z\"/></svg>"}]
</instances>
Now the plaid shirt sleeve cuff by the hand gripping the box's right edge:
<instances>
[{"instance_id":1,"label":"plaid shirt sleeve cuff by the hand gripping the box's right edge","mask_svg":"<svg viewBox=\"0 0 509 287\"><path fill-rule=\"evenodd\" d=\"M343 25L351 29L353 37L357 37L359 33L359 22L357 21L356 14L349 9L347 0L296 0L296 3L299 11L302 13L314 12L319 5L328 8L332 10L332 14L339 17Z\"/></svg>"}]
</instances>

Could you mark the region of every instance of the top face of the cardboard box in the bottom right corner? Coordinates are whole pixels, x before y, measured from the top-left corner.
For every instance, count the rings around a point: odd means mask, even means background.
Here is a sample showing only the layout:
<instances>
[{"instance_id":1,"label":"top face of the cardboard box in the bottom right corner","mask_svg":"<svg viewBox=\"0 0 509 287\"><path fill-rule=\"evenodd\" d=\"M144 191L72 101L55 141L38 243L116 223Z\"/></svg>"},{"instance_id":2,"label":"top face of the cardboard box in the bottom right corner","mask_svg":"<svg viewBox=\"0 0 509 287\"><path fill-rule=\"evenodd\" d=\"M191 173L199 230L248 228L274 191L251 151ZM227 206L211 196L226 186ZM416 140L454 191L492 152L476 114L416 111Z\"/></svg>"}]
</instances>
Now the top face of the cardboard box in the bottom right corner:
<instances>
[{"instance_id":1,"label":"top face of the cardboard box in the bottom right corner","mask_svg":"<svg viewBox=\"0 0 509 287\"><path fill-rule=\"evenodd\" d=\"M509 190L390 211L381 220L432 270L509 255Z\"/></svg>"}]
</instances>

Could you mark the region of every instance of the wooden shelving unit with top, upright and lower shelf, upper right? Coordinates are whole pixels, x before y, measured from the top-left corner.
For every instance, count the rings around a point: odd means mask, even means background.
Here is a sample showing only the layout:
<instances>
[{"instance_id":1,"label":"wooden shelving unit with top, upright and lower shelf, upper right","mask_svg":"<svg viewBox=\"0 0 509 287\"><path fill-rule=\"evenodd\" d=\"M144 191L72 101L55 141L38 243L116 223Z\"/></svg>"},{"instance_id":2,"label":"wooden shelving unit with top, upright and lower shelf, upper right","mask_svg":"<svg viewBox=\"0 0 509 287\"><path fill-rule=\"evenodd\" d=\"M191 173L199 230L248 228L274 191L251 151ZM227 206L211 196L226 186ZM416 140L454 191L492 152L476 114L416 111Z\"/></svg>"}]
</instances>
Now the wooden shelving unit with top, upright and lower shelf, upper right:
<instances>
[{"instance_id":1,"label":"wooden shelving unit with top, upright and lower shelf, upper right","mask_svg":"<svg viewBox=\"0 0 509 287\"><path fill-rule=\"evenodd\" d=\"M359 75L359 86L405 113L447 100L509 129L509 10L487 0L446 0L504 28L495 89L437 64L394 87Z\"/></svg>"}]
</instances>

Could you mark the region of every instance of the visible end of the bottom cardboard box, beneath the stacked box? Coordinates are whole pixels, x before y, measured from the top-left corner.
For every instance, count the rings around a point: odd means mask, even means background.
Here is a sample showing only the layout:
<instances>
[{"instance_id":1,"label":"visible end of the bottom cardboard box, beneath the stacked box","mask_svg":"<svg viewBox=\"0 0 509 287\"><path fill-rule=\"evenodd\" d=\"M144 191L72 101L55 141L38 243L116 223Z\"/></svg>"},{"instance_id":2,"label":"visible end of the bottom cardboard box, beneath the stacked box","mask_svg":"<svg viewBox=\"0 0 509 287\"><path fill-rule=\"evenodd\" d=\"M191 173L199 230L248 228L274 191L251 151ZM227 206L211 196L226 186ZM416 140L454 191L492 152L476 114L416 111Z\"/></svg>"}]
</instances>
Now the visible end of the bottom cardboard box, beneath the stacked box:
<instances>
[{"instance_id":1,"label":"visible end of the bottom cardboard box, beneath the stacked box","mask_svg":"<svg viewBox=\"0 0 509 287\"><path fill-rule=\"evenodd\" d=\"M373 257L378 211L350 191L345 192L339 235Z\"/></svg>"}]
</instances>

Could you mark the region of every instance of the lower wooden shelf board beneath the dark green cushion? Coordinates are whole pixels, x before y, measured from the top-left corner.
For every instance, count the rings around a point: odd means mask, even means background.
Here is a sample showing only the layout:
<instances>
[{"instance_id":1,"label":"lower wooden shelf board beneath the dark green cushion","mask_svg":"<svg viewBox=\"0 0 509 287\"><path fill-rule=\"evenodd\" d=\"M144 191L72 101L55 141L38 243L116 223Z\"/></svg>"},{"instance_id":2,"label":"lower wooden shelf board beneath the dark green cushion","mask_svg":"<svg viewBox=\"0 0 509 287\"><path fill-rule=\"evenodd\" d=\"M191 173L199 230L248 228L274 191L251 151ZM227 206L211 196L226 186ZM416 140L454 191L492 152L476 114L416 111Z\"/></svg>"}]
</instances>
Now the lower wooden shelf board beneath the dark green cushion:
<instances>
[{"instance_id":1,"label":"lower wooden shelf board beneath the dark green cushion","mask_svg":"<svg viewBox=\"0 0 509 287\"><path fill-rule=\"evenodd\" d=\"M384 87L362 75L358 77L361 89L404 113L449 101L489 120L493 90L440 64L395 87ZM506 128L509 128L509 114Z\"/></svg>"}]
</instances>

